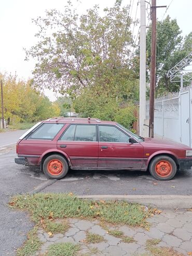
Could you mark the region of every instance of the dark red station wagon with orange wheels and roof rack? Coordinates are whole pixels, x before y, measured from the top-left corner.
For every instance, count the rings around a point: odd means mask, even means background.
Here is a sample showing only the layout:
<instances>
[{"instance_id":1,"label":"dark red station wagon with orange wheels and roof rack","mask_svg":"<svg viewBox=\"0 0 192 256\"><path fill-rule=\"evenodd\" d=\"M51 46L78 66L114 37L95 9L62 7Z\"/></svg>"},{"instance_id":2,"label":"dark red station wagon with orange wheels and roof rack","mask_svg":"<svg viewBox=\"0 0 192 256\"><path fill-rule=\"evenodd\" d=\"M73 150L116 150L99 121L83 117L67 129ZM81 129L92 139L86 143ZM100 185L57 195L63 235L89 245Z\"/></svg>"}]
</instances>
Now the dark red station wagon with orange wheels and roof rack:
<instances>
[{"instance_id":1,"label":"dark red station wagon with orange wheels and roof rack","mask_svg":"<svg viewBox=\"0 0 192 256\"><path fill-rule=\"evenodd\" d=\"M37 165L50 179L68 169L144 170L170 180L178 169L190 169L192 149L186 145L142 138L113 121L50 118L33 126L17 142L17 164Z\"/></svg>"}]
</instances>

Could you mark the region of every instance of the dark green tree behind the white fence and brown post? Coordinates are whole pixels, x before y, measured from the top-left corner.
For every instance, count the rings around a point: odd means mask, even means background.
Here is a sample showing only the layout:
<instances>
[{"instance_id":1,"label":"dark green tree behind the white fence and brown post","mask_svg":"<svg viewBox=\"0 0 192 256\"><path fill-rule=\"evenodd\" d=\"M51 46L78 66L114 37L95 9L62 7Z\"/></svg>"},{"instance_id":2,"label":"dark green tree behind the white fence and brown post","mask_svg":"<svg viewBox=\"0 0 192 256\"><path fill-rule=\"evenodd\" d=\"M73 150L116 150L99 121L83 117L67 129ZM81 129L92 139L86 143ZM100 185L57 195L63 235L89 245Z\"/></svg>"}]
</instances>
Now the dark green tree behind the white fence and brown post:
<instances>
[{"instance_id":1,"label":"dark green tree behind the white fence and brown post","mask_svg":"<svg viewBox=\"0 0 192 256\"><path fill-rule=\"evenodd\" d=\"M167 72L192 50L192 33L181 35L182 31L176 19L167 16L162 22L157 22L157 50L156 50L156 94L165 91L179 90L179 83L171 83ZM150 48L152 30L146 34L147 75L150 75Z\"/></svg>"}]
</instances>

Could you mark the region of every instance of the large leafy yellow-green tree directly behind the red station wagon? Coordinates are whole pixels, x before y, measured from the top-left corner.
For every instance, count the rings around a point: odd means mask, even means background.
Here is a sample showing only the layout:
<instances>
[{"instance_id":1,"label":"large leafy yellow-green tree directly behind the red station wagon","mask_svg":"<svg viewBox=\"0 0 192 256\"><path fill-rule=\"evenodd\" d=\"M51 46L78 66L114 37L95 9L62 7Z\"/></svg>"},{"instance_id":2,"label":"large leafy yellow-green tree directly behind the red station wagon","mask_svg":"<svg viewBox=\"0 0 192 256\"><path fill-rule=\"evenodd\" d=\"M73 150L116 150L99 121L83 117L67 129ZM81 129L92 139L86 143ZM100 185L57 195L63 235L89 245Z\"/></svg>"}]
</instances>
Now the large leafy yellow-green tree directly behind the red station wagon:
<instances>
[{"instance_id":1,"label":"large leafy yellow-green tree directly behind the red station wagon","mask_svg":"<svg viewBox=\"0 0 192 256\"><path fill-rule=\"evenodd\" d=\"M26 51L37 60L33 84L69 95L83 117L115 120L121 105L139 100L138 74L129 59L129 8L116 1L103 16L94 6L79 17L68 2L62 13L50 10L34 20L39 43ZM57 103L63 115L71 101L64 97Z\"/></svg>"}]
</instances>

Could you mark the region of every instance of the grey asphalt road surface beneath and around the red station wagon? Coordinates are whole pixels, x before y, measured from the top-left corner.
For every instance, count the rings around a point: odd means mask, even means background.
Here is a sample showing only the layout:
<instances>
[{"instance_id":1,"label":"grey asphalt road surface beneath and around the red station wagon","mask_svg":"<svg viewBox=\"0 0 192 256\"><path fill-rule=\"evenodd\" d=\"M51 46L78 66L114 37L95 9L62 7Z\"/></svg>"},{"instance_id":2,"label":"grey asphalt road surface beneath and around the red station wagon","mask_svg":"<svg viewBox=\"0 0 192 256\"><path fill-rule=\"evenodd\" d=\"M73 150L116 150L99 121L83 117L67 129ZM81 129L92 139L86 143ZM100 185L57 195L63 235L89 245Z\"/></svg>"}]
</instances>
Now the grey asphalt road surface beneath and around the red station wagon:
<instances>
[{"instance_id":1,"label":"grey asphalt road surface beneath and around the red station wagon","mask_svg":"<svg viewBox=\"0 0 192 256\"><path fill-rule=\"evenodd\" d=\"M16 193L192 194L192 170L179 172L170 181L157 181L144 172L82 170L70 170L62 180L47 180L39 168L15 164L15 150L2 152L0 151L0 256L15 255L16 248L22 245L26 233L33 225L26 213L8 208L9 198Z\"/></svg>"}]
</instances>

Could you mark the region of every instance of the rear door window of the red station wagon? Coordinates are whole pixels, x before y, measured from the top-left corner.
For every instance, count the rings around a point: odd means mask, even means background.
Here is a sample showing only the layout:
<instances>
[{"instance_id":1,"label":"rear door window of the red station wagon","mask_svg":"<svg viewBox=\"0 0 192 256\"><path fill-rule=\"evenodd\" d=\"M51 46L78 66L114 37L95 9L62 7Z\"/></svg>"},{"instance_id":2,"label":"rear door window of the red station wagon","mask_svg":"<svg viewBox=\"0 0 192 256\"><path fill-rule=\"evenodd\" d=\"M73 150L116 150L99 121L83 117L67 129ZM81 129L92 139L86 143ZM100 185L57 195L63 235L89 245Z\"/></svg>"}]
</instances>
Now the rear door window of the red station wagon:
<instances>
[{"instance_id":1,"label":"rear door window of the red station wagon","mask_svg":"<svg viewBox=\"0 0 192 256\"><path fill-rule=\"evenodd\" d=\"M62 141L97 141L95 125L70 125L60 138Z\"/></svg>"}]
</instances>

